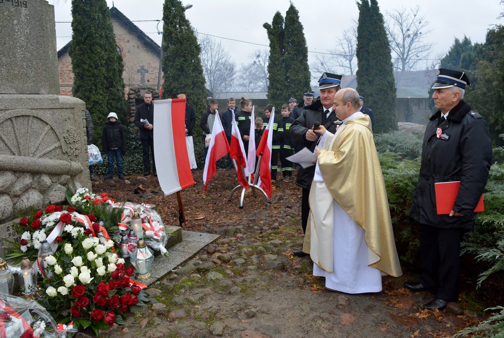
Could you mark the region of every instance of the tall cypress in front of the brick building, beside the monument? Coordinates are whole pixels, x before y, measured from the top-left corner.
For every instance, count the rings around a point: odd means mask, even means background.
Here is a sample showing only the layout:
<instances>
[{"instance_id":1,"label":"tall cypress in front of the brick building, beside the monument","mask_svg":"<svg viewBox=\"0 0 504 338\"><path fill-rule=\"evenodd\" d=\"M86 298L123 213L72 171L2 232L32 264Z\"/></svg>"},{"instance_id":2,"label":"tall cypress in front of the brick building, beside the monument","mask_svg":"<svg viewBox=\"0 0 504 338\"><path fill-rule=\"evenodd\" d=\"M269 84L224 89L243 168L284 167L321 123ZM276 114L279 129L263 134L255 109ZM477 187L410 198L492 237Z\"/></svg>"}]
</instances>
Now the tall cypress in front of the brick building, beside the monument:
<instances>
[{"instance_id":1,"label":"tall cypress in front of the brick building, beside the monument","mask_svg":"<svg viewBox=\"0 0 504 338\"><path fill-rule=\"evenodd\" d=\"M86 102L95 129L101 130L109 112L128 121L122 79L122 56L115 44L105 0L72 0L72 42L69 55L74 72L73 95ZM95 132L95 140L100 133Z\"/></svg>"}]
</instances>

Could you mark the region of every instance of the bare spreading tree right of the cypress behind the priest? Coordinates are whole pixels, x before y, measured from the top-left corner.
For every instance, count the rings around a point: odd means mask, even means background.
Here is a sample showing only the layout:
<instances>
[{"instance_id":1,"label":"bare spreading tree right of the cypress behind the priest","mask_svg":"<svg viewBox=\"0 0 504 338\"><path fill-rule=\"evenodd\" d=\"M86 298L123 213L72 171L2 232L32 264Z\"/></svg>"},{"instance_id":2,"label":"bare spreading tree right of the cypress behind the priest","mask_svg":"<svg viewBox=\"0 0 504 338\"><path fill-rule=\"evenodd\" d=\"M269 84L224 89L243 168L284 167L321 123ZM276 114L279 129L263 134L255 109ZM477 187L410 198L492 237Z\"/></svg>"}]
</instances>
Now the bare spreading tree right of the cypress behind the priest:
<instances>
[{"instance_id":1,"label":"bare spreading tree right of the cypress behind the priest","mask_svg":"<svg viewBox=\"0 0 504 338\"><path fill-rule=\"evenodd\" d=\"M389 35L390 48L395 54L394 69L415 69L420 61L429 56L433 45L423 41L423 37L430 32L426 30L429 22L420 14L419 6L387 12L387 19L385 28Z\"/></svg>"}]
</instances>

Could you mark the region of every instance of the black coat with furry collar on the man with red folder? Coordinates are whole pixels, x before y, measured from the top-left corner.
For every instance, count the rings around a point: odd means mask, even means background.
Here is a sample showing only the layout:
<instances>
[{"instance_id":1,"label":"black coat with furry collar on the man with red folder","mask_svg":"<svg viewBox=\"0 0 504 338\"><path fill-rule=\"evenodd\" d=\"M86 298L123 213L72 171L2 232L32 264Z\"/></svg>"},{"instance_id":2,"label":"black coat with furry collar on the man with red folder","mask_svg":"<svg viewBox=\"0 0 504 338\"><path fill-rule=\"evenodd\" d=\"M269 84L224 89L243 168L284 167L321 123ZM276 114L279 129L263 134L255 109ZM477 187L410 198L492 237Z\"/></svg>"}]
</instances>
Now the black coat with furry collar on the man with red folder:
<instances>
[{"instance_id":1,"label":"black coat with furry collar on the man with red folder","mask_svg":"<svg viewBox=\"0 0 504 338\"><path fill-rule=\"evenodd\" d=\"M436 228L472 229L474 208L488 178L492 161L490 133L481 115L460 101L439 124L441 112L430 117L425 129L422 162L410 216ZM440 138L436 131L440 128ZM464 217L436 214L434 183L460 181L453 210Z\"/></svg>"}]
</instances>

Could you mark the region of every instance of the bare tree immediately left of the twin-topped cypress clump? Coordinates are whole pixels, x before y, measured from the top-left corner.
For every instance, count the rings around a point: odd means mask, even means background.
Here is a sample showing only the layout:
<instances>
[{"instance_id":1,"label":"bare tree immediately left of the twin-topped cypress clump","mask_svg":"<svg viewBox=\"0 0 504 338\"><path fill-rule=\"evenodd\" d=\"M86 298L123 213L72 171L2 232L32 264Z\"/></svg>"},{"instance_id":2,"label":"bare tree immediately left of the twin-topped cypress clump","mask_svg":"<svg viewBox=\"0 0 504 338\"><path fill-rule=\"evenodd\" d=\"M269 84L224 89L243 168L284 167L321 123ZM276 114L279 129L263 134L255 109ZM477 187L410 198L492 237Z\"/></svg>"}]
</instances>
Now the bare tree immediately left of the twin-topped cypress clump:
<instances>
[{"instance_id":1,"label":"bare tree immediately left of the twin-topped cypress clump","mask_svg":"<svg viewBox=\"0 0 504 338\"><path fill-rule=\"evenodd\" d=\"M269 51L256 49L248 57L252 62L241 65L237 87L247 92L267 92Z\"/></svg>"}]
</instances>

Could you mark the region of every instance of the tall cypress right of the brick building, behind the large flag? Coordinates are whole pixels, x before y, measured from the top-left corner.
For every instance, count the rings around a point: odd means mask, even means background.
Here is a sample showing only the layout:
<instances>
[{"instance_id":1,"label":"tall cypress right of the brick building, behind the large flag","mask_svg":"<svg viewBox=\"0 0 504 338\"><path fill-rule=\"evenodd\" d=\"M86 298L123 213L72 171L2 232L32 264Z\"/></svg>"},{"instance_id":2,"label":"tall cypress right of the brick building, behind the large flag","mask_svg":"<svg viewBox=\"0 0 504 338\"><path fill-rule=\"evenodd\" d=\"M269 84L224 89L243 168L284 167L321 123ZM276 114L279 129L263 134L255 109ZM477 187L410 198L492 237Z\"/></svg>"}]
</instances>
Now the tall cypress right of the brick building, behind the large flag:
<instances>
[{"instance_id":1,"label":"tall cypress right of the brick building, behind the large flag","mask_svg":"<svg viewBox=\"0 0 504 338\"><path fill-rule=\"evenodd\" d=\"M199 121L206 108L207 96L200 58L201 47L180 1L165 0L163 22L162 96L176 98L178 94L184 93ZM199 126L199 123L196 125Z\"/></svg>"}]
</instances>

